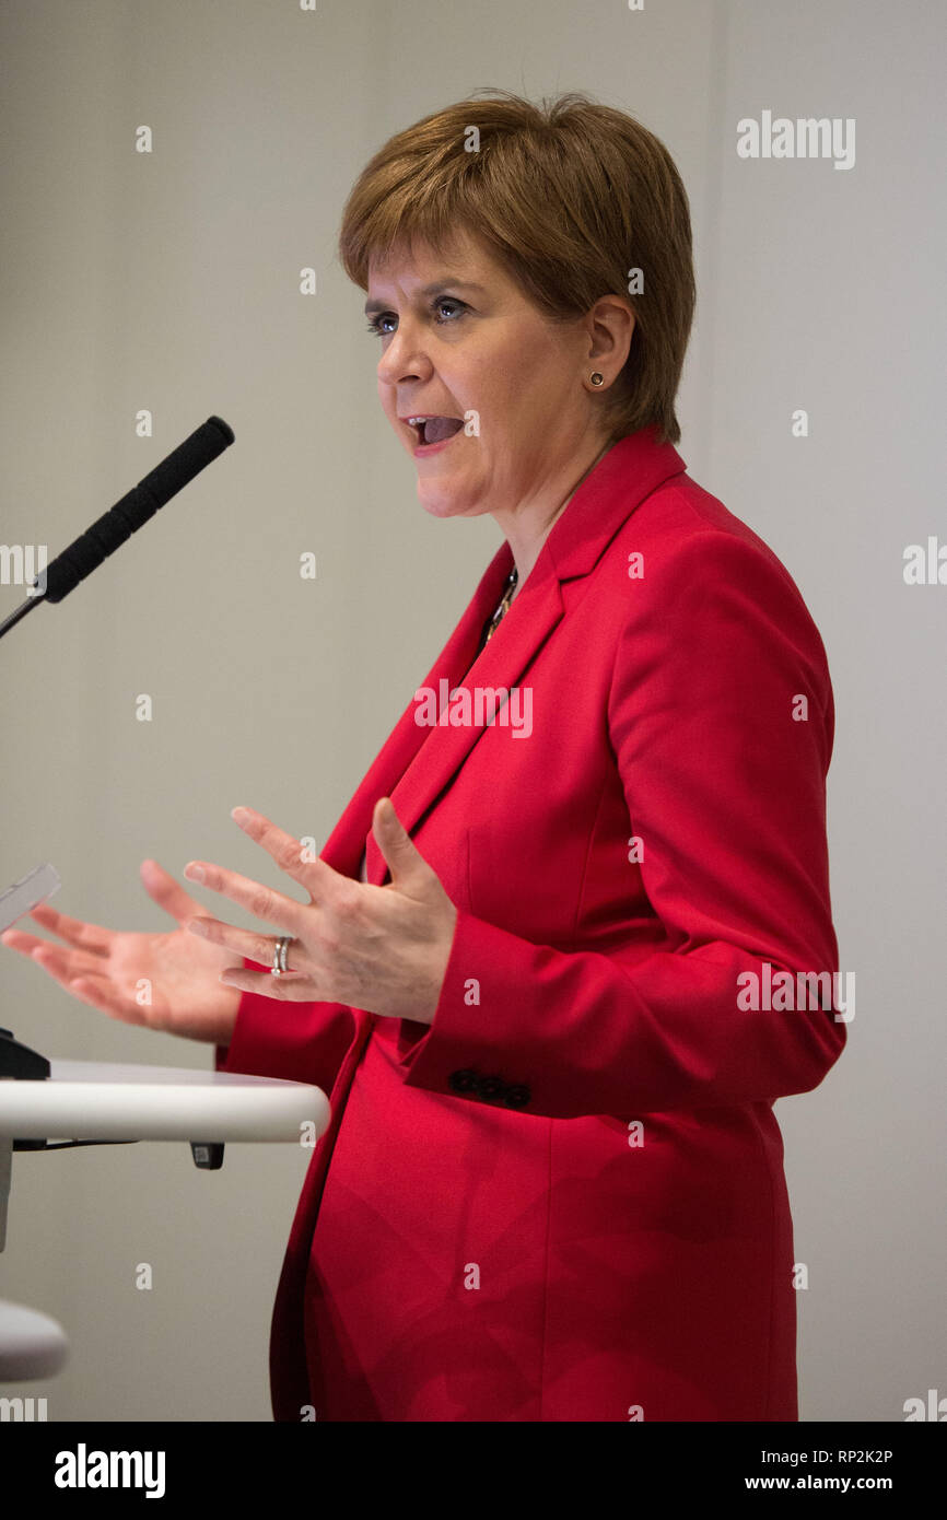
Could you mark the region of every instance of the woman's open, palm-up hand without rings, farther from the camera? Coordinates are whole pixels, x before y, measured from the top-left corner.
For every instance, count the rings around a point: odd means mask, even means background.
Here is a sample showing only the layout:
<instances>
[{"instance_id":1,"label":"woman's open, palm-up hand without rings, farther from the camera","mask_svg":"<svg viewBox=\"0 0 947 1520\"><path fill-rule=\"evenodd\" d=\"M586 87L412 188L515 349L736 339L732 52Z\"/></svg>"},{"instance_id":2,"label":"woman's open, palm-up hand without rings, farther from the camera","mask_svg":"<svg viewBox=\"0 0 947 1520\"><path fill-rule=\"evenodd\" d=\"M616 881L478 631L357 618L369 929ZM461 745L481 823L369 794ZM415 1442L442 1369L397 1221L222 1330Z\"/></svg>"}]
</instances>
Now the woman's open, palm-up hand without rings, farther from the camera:
<instances>
[{"instance_id":1,"label":"woman's open, palm-up hand without rings, farther from the camera","mask_svg":"<svg viewBox=\"0 0 947 1520\"><path fill-rule=\"evenodd\" d=\"M190 918L213 917L157 860L141 863L149 897L176 920L167 933L123 933L67 918L46 903L30 917L64 944L40 939L15 926L0 942L29 956L84 1003L125 1024L144 1024L188 1040L226 1044L240 1005L240 990L219 980L242 958L225 945L188 933Z\"/></svg>"}]
</instances>

